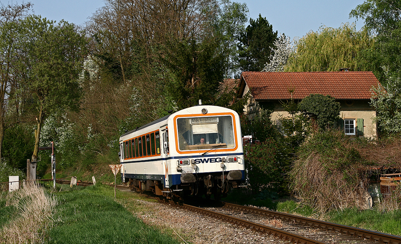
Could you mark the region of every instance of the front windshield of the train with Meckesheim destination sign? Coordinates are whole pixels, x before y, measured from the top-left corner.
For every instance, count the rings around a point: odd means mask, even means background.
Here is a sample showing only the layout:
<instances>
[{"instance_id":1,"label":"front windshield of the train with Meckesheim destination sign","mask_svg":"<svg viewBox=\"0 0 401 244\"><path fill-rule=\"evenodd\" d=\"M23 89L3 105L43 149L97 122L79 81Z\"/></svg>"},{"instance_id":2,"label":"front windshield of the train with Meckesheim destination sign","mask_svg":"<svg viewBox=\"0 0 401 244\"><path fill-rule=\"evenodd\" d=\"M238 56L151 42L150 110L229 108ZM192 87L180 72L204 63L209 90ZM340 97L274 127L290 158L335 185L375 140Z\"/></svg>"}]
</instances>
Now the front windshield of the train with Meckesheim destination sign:
<instances>
[{"instance_id":1,"label":"front windshield of the train with Meckesheim destination sign","mask_svg":"<svg viewBox=\"0 0 401 244\"><path fill-rule=\"evenodd\" d=\"M180 151L235 147L230 115L178 118L177 132Z\"/></svg>"}]
</instances>

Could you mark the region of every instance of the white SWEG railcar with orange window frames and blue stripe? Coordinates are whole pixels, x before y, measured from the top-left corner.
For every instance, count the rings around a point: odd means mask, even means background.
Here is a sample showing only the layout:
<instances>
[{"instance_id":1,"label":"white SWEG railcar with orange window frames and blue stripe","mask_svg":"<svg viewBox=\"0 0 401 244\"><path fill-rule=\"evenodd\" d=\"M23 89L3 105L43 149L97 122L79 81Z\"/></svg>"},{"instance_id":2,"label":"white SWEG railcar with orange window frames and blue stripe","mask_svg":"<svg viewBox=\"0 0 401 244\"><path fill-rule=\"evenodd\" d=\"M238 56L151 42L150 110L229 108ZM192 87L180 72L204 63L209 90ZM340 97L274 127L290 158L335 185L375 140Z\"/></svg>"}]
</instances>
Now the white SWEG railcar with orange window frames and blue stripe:
<instances>
[{"instance_id":1,"label":"white SWEG railcar with orange window frames and blue stripe","mask_svg":"<svg viewBox=\"0 0 401 244\"><path fill-rule=\"evenodd\" d=\"M228 108L199 101L121 135L119 144L121 180L132 190L220 199L245 182L240 117Z\"/></svg>"}]
</instances>

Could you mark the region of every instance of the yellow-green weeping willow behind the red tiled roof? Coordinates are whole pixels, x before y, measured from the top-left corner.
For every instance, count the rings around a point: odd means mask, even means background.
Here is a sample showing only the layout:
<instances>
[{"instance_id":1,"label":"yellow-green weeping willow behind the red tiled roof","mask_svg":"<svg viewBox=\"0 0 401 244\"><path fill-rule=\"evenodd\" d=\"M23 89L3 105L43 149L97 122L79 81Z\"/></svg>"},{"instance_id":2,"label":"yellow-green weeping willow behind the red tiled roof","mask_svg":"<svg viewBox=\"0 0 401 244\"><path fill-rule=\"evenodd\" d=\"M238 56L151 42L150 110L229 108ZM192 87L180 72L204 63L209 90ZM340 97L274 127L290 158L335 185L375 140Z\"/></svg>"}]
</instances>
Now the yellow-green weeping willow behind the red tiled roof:
<instances>
[{"instance_id":1,"label":"yellow-green weeping willow behind the red tiled roof","mask_svg":"<svg viewBox=\"0 0 401 244\"><path fill-rule=\"evenodd\" d=\"M361 52L373 46L373 39L365 29L356 31L354 24L340 28L321 27L309 32L296 44L296 52L290 57L285 71L318 72L368 71L369 66L361 58Z\"/></svg>"}]
</instances>

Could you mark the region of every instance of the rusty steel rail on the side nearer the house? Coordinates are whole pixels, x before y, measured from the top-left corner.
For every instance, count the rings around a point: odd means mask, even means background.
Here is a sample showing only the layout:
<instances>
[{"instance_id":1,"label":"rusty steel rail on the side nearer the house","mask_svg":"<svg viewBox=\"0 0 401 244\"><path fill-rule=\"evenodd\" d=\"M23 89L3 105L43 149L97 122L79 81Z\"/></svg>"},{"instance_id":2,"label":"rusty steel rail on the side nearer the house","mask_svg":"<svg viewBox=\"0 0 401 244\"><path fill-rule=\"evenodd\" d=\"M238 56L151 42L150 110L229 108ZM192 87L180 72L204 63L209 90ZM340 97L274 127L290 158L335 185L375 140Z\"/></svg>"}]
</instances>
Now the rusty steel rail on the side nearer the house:
<instances>
[{"instance_id":1,"label":"rusty steel rail on the side nearer the house","mask_svg":"<svg viewBox=\"0 0 401 244\"><path fill-rule=\"evenodd\" d=\"M338 231L338 232L341 232L344 234L354 235L354 236L358 236L358 237L365 238L365 239L375 240L378 242L401 244L401 236L397 236L397 235L391 235L391 234L376 232L376 231L372 231L372 230L346 226L346 225L342 225L342 224L325 222L322 220L317 220L317 219L312 219L312 218L307 218L307 217L302 217L302 216L297 216L297 215L292 215L292 214L287 214L287 213L282 213L282 212L270 211L270 210L261 209L261 208L242 206L242 205L237 205L237 204L228 203L228 202L224 202L224 205L227 207L230 207L230 208L246 209L248 211L259 212L259 213L263 213L265 215L276 216L276 217L280 217L283 219L291 219L291 220L295 219L295 221L297 221L298 223L302 223L304 225L326 228L326 229L329 229L332 231Z\"/></svg>"}]
</instances>

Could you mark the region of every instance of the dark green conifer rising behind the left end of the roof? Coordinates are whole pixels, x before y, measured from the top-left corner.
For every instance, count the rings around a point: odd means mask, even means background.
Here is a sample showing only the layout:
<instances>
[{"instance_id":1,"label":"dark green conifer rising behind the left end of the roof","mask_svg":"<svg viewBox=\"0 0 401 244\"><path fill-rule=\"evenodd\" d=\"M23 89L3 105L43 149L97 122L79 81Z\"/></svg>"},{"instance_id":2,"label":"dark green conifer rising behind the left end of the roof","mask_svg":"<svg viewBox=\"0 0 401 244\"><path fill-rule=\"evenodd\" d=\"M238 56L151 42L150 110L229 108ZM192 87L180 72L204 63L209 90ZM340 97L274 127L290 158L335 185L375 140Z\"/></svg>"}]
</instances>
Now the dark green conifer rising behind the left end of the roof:
<instances>
[{"instance_id":1,"label":"dark green conifer rising behind the left end of the roof","mask_svg":"<svg viewBox=\"0 0 401 244\"><path fill-rule=\"evenodd\" d=\"M273 32L273 26L261 15L257 20L251 18L249 22L250 25L239 36L240 70L262 71L266 63L270 62L277 31Z\"/></svg>"}]
</instances>

